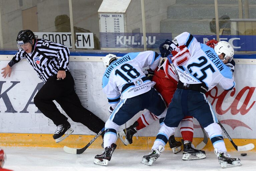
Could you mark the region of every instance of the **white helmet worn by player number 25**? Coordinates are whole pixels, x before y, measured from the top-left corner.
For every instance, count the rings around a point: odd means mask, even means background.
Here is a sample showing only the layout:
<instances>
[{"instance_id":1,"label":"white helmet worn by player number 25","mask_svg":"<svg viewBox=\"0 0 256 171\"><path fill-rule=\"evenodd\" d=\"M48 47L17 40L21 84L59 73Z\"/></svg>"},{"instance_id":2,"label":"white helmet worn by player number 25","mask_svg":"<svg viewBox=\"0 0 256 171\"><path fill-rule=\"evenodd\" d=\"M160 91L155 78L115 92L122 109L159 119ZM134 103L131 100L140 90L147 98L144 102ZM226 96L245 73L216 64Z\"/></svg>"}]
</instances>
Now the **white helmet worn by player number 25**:
<instances>
[{"instance_id":1,"label":"white helmet worn by player number 25","mask_svg":"<svg viewBox=\"0 0 256 171\"><path fill-rule=\"evenodd\" d=\"M234 56L234 48L232 47L231 44L229 44L226 41L220 41L219 43L217 43L214 47L214 51L216 52L216 54L219 56L220 54L224 53L224 59L226 60L228 57L230 57L228 59L228 61L230 62L233 59Z\"/></svg>"}]
</instances>

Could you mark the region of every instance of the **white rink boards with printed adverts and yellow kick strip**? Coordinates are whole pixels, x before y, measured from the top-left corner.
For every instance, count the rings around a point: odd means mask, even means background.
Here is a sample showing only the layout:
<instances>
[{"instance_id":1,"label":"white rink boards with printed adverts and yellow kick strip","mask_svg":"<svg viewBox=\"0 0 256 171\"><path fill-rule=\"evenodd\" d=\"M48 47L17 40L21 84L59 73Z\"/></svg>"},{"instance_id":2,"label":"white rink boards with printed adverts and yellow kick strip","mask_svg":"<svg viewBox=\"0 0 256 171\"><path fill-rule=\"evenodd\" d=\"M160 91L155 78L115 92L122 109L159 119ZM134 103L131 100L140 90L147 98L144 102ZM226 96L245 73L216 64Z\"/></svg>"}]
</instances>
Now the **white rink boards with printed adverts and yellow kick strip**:
<instances>
[{"instance_id":1,"label":"white rink boards with printed adverts and yellow kick strip","mask_svg":"<svg viewBox=\"0 0 256 171\"><path fill-rule=\"evenodd\" d=\"M0 68L7 65L13 54L15 52L1 52ZM104 55L106 54L71 53L69 68L82 105L105 122L109 116L107 110L109 105L101 88L101 79L104 73L102 57ZM235 61L235 89L224 91L217 86L208 94L208 100L212 103L219 121L237 145L256 144L255 55L236 55ZM0 77L0 146L63 147L66 145L77 148L85 146L95 133L70 119L68 121L74 129L73 134L64 141L55 143L52 134L56 126L33 104L33 97L42 85L43 82L26 60L13 66L11 77L5 79ZM65 114L57 103L56 106ZM133 124L142 113L140 112L127 122L126 127ZM125 125L121 128L125 128ZM132 145L124 146L119 140L117 144L119 148L150 149L159 128L159 123L156 122L139 131L138 140L134 137ZM224 133L223 135L227 148L235 150ZM178 139L181 137L179 130L176 131L176 137ZM195 145L200 143L203 137L199 123L195 119L194 137ZM90 147L100 148L100 144L101 138L98 138ZM205 149L213 150L210 140Z\"/></svg>"}]
</instances>

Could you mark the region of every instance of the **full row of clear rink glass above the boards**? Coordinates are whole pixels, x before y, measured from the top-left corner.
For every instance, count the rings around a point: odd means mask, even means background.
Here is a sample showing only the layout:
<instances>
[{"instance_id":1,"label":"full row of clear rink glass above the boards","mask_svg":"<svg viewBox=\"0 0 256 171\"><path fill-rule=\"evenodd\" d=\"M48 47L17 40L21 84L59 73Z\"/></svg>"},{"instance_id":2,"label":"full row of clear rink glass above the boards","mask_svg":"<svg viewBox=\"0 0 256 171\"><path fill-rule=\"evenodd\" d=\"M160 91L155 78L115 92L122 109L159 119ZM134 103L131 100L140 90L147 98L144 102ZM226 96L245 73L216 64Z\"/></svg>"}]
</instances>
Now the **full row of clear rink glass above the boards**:
<instances>
[{"instance_id":1,"label":"full row of clear rink glass above the boards","mask_svg":"<svg viewBox=\"0 0 256 171\"><path fill-rule=\"evenodd\" d=\"M103 3L110 9L105 13L109 17L98 11ZM85 52L144 50L141 1L120 3L128 4L122 12L113 8L117 3L120 1L72 0L76 42L73 48ZM68 0L12 0L11 3L0 0L0 5L1 48L16 50L17 33L24 29L55 33L39 37L54 42L62 43L63 39L70 38ZM171 40L185 31L201 43L217 39L214 0L144 0L144 7L148 50L158 51L158 46L165 39ZM231 43L236 51L255 51L256 1L218 0L218 18L220 40ZM62 40L57 40L59 38ZM81 47L84 43L90 44Z\"/></svg>"}]
</instances>

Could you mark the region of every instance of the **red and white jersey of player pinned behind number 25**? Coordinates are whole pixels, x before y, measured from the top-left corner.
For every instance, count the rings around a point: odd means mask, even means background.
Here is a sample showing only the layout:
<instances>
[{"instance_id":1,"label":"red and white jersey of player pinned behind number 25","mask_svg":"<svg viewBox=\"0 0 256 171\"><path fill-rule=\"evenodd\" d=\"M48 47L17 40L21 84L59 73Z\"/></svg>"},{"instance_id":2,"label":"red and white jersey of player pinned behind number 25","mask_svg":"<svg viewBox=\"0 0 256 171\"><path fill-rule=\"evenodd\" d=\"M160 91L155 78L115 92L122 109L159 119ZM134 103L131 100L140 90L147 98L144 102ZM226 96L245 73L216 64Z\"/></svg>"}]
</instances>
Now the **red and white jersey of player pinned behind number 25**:
<instances>
[{"instance_id":1,"label":"red and white jersey of player pinned behind number 25","mask_svg":"<svg viewBox=\"0 0 256 171\"><path fill-rule=\"evenodd\" d=\"M190 59L191 55L186 46L183 46L181 48L176 48L175 50L172 51L172 54L174 55L171 59L174 64L174 66L181 66L185 65L187 61ZM163 68L165 71L165 74L167 77L171 80L179 81L177 76L175 75L175 72L173 71L172 67L170 66L169 60L166 59L165 62L163 63Z\"/></svg>"}]
</instances>

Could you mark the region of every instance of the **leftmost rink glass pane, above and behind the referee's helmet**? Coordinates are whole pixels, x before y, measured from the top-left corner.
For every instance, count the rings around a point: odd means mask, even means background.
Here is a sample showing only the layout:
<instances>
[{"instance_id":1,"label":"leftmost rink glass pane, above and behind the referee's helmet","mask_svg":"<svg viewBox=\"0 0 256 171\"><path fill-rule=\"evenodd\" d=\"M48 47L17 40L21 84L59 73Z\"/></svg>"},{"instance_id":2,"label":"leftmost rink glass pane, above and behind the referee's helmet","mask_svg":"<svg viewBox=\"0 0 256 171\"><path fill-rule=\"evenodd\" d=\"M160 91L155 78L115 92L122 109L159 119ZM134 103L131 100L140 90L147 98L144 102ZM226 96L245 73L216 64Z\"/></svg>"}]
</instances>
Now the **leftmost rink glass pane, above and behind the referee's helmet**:
<instances>
[{"instance_id":1,"label":"leftmost rink glass pane, above and behind the referee's helmet","mask_svg":"<svg viewBox=\"0 0 256 171\"><path fill-rule=\"evenodd\" d=\"M1 48L17 49L16 38L21 30L56 32L55 17L69 15L68 0L1 0Z\"/></svg>"}]
</instances>

